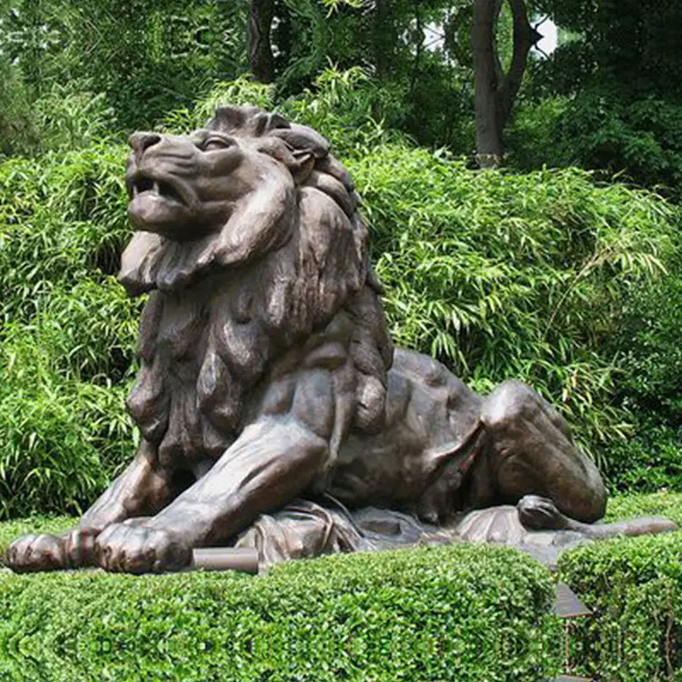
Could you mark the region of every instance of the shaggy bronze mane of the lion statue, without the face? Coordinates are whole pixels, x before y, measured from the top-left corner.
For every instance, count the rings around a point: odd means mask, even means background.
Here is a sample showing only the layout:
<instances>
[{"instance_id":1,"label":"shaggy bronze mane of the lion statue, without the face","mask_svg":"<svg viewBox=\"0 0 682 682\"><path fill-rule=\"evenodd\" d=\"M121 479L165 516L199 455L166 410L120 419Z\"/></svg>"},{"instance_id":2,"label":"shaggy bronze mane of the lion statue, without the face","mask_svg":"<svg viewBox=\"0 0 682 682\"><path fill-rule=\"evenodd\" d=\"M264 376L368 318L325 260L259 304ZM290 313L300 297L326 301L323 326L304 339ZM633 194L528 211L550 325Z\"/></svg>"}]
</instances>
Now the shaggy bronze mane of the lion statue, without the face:
<instances>
[{"instance_id":1,"label":"shaggy bronze mane of the lion statue, without the face","mask_svg":"<svg viewBox=\"0 0 682 682\"><path fill-rule=\"evenodd\" d=\"M286 182L266 197L276 206L275 237L265 253L227 265L232 220L190 241L135 233L120 280L132 296L150 294L140 325L140 372L127 402L131 416L162 462L220 456L254 417L249 396L276 359L324 335L344 313L353 322L351 426L379 430L393 346L346 169L316 131L256 107L220 107L206 128L255 146L264 163L274 160L286 171ZM264 200L258 182L236 207L256 216L253 229L265 213L256 210Z\"/></svg>"}]
</instances>

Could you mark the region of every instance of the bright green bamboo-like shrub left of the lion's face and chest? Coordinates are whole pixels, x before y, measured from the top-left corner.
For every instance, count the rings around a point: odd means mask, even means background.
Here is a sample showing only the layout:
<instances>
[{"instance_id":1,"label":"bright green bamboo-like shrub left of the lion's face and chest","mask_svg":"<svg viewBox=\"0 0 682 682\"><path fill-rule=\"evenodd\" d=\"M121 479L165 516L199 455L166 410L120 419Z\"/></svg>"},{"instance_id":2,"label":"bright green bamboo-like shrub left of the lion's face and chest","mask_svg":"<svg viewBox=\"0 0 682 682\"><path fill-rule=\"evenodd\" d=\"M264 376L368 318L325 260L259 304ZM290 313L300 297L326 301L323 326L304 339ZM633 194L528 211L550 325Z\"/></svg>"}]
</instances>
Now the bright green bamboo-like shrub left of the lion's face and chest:
<instances>
[{"instance_id":1,"label":"bright green bamboo-like shrub left of the lion's face and chest","mask_svg":"<svg viewBox=\"0 0 682 682\"><path fill-rule=\"evenodd\" d=\"M124 159L96 144L0 165L0 517L77 511L132 454L139 305L110 275Z\"/></svg>"}]
</instances>

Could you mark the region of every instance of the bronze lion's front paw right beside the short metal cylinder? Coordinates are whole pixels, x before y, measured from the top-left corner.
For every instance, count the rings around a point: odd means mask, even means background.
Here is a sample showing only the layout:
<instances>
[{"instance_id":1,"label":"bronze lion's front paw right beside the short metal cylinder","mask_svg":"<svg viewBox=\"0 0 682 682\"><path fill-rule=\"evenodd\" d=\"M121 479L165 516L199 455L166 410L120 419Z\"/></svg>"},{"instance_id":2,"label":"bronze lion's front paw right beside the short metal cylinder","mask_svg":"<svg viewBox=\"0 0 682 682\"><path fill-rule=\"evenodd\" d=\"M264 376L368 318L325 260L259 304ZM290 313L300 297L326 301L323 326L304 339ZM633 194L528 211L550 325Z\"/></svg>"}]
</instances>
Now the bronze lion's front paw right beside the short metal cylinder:
<instances>
[{"instance_id":1,"label":"bronze lion's front paw right beside the short metal cylinder","mask_svg":"<svg viewBox=\"0 0 682 682\"><path fill-rule=\"evenodd\" d=\"M112 524L97 537L95 561L107 571L162 573L189 565L192 549L168 531Z\"/></svg>"}]
</instances>

